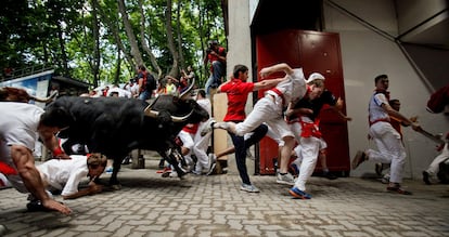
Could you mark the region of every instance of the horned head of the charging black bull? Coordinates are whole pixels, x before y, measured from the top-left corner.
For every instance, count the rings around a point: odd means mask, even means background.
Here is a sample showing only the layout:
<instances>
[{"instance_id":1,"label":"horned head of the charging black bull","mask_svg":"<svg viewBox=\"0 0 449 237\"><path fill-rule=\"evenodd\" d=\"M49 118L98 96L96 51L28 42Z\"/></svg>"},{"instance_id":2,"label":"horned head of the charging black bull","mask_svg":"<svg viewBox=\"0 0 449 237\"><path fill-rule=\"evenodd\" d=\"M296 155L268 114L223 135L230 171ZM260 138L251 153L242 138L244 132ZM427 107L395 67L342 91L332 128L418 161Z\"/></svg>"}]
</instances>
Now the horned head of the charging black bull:
<instances>
[{"instance_id":1,"label":"horned head of the charging black bull","mask_svg":"<svg viewBox=\"0 0 449 237\"><path fill-rule=\"evenodd\" d=\"M144 114L145 116L156 118L161 111L168 111L174 122L183 122L189 118L193 122L198 122L208 118L207 111L202 108L194 100L190 97L195 81L179 95L159 95L151 105L149 105ZM176 116L174 115L176 114ZM179 115L179 116L178 116Z\"/></svg>"}]
</instances>

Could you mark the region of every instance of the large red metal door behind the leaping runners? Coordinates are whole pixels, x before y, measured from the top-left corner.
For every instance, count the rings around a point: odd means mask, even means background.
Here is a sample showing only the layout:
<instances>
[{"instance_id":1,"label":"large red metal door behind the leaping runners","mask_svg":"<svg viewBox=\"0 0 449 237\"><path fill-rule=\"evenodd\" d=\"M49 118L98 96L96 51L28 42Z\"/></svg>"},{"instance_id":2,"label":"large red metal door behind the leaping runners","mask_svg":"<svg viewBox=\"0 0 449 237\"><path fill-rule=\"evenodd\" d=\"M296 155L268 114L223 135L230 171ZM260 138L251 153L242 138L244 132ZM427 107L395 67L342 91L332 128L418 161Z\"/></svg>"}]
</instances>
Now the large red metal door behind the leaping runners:
<instances>
[{"instance_id":1,"label":"large red metal door behind the leaping runners","mask_svg":"<svg viewBox=\"0 0 449 237\"><path fill-rule=\"evenodd\" d=\"M287 63L292 67L303 67L306 77L315 71L320 73L325 77L326 88L345 100L338 34L288 29L256 36L256 54L258 70L273 64ZM280 76L282 75L272 77ZM259 96L262 94L259 93ZM320 124L328 143L329 169L347 175L350 170L347 123L333 111L323 110ZM278 145L265 137L260 142L259 155L260 174L273 174ZM316 170L320 169L318 163Z\"/></svg>"}]
</instances>

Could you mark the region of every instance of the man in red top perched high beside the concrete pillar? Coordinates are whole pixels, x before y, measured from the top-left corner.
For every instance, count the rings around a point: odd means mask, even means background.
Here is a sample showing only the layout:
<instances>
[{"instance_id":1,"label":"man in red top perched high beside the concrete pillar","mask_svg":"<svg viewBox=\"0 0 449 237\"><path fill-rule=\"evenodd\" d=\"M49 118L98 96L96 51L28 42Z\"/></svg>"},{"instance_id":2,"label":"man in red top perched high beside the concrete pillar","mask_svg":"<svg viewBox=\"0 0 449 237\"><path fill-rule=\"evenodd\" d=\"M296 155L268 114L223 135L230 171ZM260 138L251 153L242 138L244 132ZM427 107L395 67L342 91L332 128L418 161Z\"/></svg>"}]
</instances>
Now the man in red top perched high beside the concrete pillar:
<instances>
[{"instance_id":1,"label":"man in red top perched high beside the concrete pillar","mask_svg":"<svg viewBox=\"0 0 449 237\"><path fill-rule=\"evenodd\" d=\"M209 41L209 48L206 49L204 64L210 63L210 77L205 84L206 94L210 94L210 88L218 88L221 79L226 74L226 49L218 45L217 40Z\"/></svg>"}]
</instances>

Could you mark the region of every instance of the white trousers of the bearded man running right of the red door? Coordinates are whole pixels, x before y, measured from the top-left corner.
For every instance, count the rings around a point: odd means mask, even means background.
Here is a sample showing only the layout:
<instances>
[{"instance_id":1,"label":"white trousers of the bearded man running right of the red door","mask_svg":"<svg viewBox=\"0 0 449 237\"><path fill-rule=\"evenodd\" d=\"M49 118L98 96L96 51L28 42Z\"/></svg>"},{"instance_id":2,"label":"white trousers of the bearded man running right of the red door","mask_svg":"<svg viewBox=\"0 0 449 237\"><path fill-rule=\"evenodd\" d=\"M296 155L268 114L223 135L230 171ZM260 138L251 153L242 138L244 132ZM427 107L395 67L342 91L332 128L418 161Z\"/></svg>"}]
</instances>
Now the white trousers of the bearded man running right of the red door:
<instances>
[{"instance_id":1,"label":"white trousers of the bearded man running right of the red door","mask_svg":"<svg viewBox=\"0 0 449 237\"><path fill-rule=\"evenodd\" d=\"M390 163L389 182L401 183L407 154L400 134L389 122L381 121L370 127L370 135L379 152L368 149L369 159L375 162Z\"/></svg>"}]
</instances>

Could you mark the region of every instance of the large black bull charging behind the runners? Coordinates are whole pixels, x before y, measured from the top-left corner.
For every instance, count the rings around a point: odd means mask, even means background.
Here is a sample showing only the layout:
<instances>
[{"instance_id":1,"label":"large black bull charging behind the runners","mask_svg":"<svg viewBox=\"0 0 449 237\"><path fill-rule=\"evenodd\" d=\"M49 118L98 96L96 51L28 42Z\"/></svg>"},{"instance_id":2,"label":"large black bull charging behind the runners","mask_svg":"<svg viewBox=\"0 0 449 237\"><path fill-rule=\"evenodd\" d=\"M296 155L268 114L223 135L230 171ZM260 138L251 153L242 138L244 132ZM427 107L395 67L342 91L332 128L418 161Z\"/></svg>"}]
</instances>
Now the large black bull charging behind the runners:
<instances>
[{"instance_id":1,"label":"large black bull charging behind the runners","mask_svg":"<svg viewBox=\"0 0 449 237\"><path fill-rule=\"evenodd\" d=\"M111 185L117 185L117 172L123 159L133 149L156 150L174 164L179 176L182 169L175 137L187 123L207 119L207 111L194 100L162 95L151 105L154 116L145 115L149 103L134 98L118 97L60 97L46 110L63 109L73 117L69 127L59 136L68 139L64 147L86 144L90 153L102 153L113 159ZM147 110L149 111L149 110ZM65 149L70 150L70 149Z\"/></svg>"}]
</instances>

